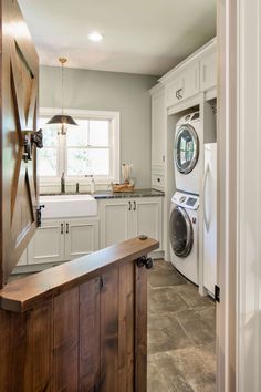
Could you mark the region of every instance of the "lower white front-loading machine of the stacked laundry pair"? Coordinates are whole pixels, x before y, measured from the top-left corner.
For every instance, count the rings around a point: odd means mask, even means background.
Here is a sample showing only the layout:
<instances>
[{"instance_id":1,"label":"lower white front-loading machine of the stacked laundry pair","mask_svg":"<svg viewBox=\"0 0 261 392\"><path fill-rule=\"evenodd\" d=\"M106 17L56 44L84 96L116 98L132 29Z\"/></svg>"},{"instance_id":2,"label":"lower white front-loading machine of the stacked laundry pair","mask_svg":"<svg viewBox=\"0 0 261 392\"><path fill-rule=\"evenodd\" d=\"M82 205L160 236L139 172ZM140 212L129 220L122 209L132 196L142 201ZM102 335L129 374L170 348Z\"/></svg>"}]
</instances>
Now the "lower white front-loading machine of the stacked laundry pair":
<instances>
[{"instance_id":1,"label":"lower white front-loading machine of the stacked laundry pair","mask_svg":"<svg viewBox=\"0 0 261 392\"><path fill-rule=\"evenodd\" d=\"M176 192L169 217L170 260L187 279L198 285L199 196Z\"/></svg>"}]
</instances>

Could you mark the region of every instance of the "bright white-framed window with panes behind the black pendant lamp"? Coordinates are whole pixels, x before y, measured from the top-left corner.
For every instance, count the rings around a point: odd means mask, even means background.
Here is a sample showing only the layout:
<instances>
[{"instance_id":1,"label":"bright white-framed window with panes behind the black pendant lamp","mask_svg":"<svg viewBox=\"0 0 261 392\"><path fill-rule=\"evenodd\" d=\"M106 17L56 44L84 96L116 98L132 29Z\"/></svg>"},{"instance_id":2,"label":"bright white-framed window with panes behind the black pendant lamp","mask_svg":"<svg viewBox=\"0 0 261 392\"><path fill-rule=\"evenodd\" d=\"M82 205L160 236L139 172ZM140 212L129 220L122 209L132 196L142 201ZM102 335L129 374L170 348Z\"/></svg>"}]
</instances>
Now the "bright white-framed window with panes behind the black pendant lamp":
<instances>
[{"instance_id":1,"label":"bright white-framed window with panes behind the black pendant lamp","mask_svg":"<svg viewBox=\"0 0 261 392\"><path fill-rule=\"evenodd\" d=\"M59 134L59 125L46 122L53 110L42 109L40 126L43 148L39 151L41 183L58 183L62 173L70 182L93 175L100 183L119 178L119 113L67 111L79 126L69 126L66 135Z\"/></svg>"}]
</instances>

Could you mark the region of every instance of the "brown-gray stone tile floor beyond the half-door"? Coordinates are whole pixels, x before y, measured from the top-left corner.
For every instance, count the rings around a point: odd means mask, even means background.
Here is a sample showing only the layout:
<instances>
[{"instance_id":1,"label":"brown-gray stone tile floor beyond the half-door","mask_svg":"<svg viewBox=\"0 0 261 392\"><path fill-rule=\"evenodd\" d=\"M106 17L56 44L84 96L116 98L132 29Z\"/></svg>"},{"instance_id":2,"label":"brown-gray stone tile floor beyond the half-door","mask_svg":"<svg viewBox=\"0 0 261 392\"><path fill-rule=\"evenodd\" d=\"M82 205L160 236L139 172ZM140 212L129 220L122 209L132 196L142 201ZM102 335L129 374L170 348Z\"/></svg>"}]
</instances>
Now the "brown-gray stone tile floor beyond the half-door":
<instances>
[{"instance_id":1,"label":"brown-gray stone tile floor beyond the half-door","mask_svg":"<svg viewBox=\"0 0 261 392\"><path fill-rule=\"evenodd\" d=\"M148 272L147 392L213 392L215 302L164 260Z\"/></svg>"}]
</instances>

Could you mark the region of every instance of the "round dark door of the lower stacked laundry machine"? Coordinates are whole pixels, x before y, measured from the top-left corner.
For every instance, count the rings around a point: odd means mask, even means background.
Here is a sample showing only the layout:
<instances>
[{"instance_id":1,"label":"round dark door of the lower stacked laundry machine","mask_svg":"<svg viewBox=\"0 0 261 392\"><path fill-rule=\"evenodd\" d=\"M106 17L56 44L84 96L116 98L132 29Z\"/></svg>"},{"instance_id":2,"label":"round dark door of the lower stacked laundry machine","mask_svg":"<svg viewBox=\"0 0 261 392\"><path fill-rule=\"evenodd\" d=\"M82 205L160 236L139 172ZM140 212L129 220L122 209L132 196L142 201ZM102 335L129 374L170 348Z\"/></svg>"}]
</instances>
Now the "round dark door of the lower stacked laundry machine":
<instances>
[{"instance_id":1,"label":"round dark door of the lower stacked laundry machine","mask_svg":"<svg viewBox=\"0 0 261 392\"><path fill-rule=\"evenodd\" d=\"M187 257L194 245L194 229L185 208L176 206L170 215L169 238L173 251L178 257Z\"/></svg>"}]
</instances>

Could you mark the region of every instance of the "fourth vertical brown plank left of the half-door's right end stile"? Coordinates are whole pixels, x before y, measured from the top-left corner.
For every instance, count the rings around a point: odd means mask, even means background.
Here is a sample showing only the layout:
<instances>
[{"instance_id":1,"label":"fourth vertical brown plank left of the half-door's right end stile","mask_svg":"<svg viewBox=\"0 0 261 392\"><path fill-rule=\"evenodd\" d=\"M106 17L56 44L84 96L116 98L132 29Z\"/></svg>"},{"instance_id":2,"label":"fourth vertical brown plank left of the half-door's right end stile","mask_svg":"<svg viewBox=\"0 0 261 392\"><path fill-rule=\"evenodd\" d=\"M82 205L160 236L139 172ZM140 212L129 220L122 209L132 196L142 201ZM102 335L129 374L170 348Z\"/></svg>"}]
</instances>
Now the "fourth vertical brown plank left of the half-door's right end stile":
<instances>
[{"instance_id":1,"label":"fourth vertical brown plank left of the half-door's right end stile","mask_svg":"<svg viewBox=\"0 0 261 392\"><path fill-rule=\"evenodd\" d=\"M79 288L53 300L53 391L79 390Z\"/></svg>"}]
</instances>

